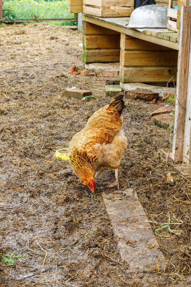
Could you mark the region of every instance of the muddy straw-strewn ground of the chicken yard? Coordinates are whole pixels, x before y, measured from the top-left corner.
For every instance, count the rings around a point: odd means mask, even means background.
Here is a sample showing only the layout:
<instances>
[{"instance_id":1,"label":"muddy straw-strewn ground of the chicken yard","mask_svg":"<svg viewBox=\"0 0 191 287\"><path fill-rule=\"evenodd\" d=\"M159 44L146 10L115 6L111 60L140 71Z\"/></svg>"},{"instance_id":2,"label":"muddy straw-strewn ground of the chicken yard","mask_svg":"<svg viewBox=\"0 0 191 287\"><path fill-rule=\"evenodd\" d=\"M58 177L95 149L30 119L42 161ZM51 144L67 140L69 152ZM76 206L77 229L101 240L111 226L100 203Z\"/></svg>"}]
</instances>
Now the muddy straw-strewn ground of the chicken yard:
<instances>
[{"instance_id":1,"label":"muddy straw-strewn ground of the chicken yard","mask_svg":"<svg viewBox=\"0 0 191 287\"><path fill-rule=\"evenodd\" d=\"M190 182L166 167L159 148L169 151L172 134L149 117L164 103L126 100L123 112L121 189L136 190L153 231L174 223L156 231L166 270L129 274L101 197L114 171L99 175L92 204L69 163L53 158L111 100L105 78L69 73L83 68L81 33L40 23L2 25L0 36L0 256L25 255L0 263L0 286L191 286ZM96 98L63 98L73 86Z\"/></svg>"}]
</instances>

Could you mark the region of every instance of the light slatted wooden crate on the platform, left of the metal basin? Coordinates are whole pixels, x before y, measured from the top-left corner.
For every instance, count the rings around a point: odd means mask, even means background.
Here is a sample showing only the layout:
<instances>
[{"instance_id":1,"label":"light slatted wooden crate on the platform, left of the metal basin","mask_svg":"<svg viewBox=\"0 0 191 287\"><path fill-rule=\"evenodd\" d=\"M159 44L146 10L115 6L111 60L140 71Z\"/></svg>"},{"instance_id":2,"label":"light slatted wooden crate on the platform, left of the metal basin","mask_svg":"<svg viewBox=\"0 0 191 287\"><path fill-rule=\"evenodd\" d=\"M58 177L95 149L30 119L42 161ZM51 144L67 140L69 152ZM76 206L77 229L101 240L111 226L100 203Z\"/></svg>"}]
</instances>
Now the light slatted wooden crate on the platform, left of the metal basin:
<instances>
[{"instance_id":1,"label":"light slatted wooden crate on the platform, left of the metal basin","mask_svg":"<svg viewBox=\"0 0 191 287\"><path fill-rule=\"evenodd\" d=\"M83 13L98 17L126 17L134 10L134 0L83 0L83 4Z\"/></svg>"}]
</instances>

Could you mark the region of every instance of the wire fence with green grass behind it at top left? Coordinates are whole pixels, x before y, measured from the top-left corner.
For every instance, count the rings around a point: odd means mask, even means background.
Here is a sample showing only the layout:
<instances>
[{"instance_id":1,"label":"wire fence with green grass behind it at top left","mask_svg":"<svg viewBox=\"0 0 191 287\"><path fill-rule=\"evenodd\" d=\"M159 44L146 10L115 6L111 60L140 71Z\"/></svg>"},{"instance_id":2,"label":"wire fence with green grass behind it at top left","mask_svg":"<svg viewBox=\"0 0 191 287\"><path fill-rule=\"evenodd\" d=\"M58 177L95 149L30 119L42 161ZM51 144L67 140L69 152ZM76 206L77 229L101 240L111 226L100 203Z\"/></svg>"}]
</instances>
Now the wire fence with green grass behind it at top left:
<instances>
[{"instance_id":1,"label":"wire fence with green grass behind it at top left","mask_svg":"<svg viewBox=\"0 0 191 287\"><path fill-rule=\"evenodd\" d=\"M1 22L76 21L68 0L0 0Z\"/></svg>"}]
</instances>

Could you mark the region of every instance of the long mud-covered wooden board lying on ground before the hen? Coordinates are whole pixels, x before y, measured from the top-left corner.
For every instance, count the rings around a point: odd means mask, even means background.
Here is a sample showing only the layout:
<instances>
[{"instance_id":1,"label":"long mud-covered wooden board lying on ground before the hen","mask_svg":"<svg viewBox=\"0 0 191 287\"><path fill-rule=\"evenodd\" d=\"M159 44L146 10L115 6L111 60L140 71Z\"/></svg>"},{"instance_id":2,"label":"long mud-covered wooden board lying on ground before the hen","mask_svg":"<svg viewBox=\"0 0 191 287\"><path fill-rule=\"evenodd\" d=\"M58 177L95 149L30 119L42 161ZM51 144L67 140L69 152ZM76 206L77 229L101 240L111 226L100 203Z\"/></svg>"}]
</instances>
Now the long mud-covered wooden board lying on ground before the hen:
<instances>
[{"instance_id":1,"label":"long mud-covered wooden board lying on ground before the hen","mask_svg":"<svg viewBox=\"0 0 191 287\"><path fill-rule=\"evenodd\" d=\"M124 194L124 195L123 195ZM165 269L165 259L133 189L102 194L128 273Z\"/></svg>"}]
</instances>

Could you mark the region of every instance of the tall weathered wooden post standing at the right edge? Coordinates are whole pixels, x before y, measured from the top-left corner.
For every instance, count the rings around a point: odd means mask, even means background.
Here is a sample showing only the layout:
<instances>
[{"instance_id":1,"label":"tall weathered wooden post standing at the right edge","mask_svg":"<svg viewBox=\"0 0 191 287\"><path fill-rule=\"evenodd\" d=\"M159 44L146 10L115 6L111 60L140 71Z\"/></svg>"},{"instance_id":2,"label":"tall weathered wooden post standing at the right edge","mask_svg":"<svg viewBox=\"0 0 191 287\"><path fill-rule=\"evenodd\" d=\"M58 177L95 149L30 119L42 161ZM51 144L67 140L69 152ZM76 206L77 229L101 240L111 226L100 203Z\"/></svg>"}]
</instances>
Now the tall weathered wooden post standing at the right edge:
<instances>
[{"instance_id":1,"label":"tall weathered wooden post standing at the right edge","mask_svg":"<svg viewBox=\"0 0 191 287\"><path fill-rule=\"evenodd\" d=\"M186 114L186 99L187 99L187 92L190 93L189 92L190 88L188 89L188 85L189 86L191 85L190 81L191 77L189 76L188 79L190 39L191 39L190 33L191 33L191 6L182 6L181 18L180 18L180 31L179 31L177 98L176 98L176 110L175 110L174 132L173 132L174 133L173 149L172 149L172 157L176 161L182 161L183 159L185 115L187 115L186 129L189 130L189 125L187 125L187 121L189 120L189 112L187 111ZM189 103L187 103L187 105L189 105ZM189 111L190 109L191 107L189 106ZM187 139L186 135L185 137ZM186 142L188 142L188 139L186 140Z\"/></svg>"}]
</instances>

